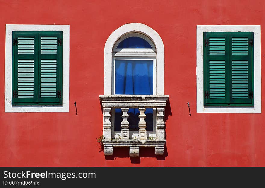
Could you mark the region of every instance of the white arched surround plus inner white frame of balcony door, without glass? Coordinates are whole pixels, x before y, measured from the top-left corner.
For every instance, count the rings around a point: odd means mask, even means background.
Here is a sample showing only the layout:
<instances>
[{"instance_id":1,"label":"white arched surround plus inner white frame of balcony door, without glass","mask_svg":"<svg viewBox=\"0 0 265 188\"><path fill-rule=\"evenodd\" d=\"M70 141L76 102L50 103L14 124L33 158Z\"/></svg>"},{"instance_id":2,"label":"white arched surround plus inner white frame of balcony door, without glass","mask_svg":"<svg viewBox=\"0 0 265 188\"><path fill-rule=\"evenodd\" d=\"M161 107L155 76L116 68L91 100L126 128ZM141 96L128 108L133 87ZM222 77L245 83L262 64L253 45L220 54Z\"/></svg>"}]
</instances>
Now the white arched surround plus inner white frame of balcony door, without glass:
<instances>
[{"instance_id":1,"label":"white arched surround plus inner white frame of balcony door, without glass","mask_svg":"<svg viewBox=\"0 0 265 188\"><path fill-rule=\"evenodd\" d=\"M152 49L117 49L118 44L122 40L131 36L145 39ZM115 95L115 59L154 60L153 95L164 95L164 44L158 33L151 27L142 23L128 23L111 33L104 48L104 95ZM112 109L111 113L114 114L114 109ZM147 137L156 137L155 109L153 113L154 127L153 131L147 132ZM111 118L111 124L111 136L120 135L120 131L114 131L114 118ZM138 137L138 133L138 131L130 131L129 137Z\"/></svg>"}]
</instances>

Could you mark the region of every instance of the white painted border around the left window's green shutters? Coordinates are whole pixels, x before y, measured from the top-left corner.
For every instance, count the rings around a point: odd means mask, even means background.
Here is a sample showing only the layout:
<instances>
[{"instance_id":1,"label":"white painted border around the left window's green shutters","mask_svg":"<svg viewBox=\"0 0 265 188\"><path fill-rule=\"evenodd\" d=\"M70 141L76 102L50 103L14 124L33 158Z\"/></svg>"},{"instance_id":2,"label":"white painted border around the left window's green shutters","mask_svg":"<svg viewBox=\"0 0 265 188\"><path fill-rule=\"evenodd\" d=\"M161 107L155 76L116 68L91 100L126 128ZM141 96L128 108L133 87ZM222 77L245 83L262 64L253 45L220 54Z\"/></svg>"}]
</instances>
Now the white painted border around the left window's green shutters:
<instances>
[{"instance_id":1,"label":"white painted border around the left window's green shutters","mask_svg":"<svg viewBox=\"0 0 265 188\"><path fill-rule=\"evenodd\" d=\"M12 106L12 31L63 32L63 105ZM69 112L70 25L6 24L5 34L5 112Z\"/></svg>"}]
</instances>

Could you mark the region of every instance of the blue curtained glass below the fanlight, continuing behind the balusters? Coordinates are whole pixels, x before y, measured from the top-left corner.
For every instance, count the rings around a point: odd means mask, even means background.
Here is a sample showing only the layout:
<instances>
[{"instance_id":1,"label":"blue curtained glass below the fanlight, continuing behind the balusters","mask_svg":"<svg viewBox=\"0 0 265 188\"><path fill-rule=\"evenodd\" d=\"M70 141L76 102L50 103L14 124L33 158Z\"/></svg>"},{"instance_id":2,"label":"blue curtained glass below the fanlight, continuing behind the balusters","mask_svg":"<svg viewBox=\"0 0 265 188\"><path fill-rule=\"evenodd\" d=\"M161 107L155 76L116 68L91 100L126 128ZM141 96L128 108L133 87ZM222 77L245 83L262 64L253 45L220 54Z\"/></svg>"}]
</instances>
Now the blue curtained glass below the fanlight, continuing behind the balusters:
<instances>
[{"instance_id":1,"label":"blue curtained glass below the fanlight, continuing behind the balusters","mask_svg":"<svg viewBox=\"0 0 265 188\"><path fill-rule=\"evenodd\" d=\"M153 95L153 60L115 60L115 94ZM138 131L138 108L130 108L129 130ZM153 131L153 108L147 108L146 129ZM115 131L121 130L121 109L115 109Z\"/></svg>"}]
</instances>

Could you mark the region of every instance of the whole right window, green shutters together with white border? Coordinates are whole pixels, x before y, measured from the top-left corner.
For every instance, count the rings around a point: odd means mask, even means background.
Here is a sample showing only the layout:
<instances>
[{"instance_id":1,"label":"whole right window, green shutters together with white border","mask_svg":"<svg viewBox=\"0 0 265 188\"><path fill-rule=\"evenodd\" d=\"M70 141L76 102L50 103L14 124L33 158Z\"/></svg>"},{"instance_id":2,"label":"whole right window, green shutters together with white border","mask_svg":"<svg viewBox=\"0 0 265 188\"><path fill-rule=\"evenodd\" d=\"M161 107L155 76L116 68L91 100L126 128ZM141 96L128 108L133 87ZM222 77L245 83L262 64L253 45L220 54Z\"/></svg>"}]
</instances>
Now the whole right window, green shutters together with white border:
<instances>
[{"instance_id":1,"label":"whole right window, green shutters together with white border","mask_svg":"<svg viewBox=\"0 0 265 188\"><path fill-rule=\"evenodd\" d=\"M198 113L261 113L259 25L197 25L196 54Z\"/></svg>"}]
</instances>

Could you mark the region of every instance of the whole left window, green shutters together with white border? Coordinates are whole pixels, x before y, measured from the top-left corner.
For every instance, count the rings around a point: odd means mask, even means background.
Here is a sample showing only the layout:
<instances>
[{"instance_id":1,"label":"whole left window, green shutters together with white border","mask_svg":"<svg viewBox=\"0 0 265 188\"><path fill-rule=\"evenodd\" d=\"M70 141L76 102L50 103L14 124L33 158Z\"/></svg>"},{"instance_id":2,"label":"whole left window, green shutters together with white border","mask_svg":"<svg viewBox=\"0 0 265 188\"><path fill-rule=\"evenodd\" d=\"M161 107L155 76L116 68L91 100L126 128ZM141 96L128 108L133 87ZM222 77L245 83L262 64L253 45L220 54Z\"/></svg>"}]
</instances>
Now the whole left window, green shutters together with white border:
<instances>
[{"instance_id":1,"label":"whole left window, green shutters together with white border","mask_svg":"<svg viewBox=\"0 0 265 188\"><path fill-rule=\"evenodd\" d=\"M5 112L69 112L69 53L69 25L6 24Z\"/></svg>"}]
</instances>

